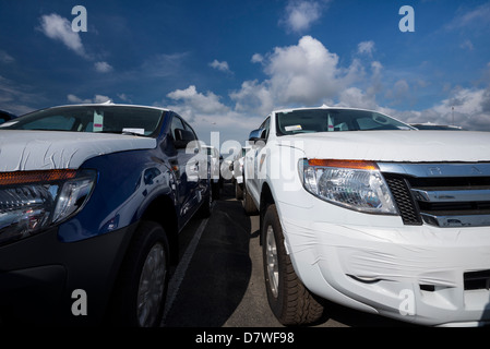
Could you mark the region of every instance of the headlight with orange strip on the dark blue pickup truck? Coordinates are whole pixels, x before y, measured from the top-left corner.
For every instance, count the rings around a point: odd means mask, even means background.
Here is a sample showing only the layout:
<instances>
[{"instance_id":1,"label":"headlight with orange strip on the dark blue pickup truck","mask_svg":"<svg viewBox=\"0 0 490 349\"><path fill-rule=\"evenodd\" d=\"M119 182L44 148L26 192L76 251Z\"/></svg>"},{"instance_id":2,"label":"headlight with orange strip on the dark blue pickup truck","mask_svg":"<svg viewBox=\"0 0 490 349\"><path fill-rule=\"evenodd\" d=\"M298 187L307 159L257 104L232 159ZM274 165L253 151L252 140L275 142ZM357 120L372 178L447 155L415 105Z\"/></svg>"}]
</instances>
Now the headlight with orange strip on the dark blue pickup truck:
<instances>
[{"instance_id":1,"label":"headlight with orange strip on the dark blue pickup truck","mask_svg":"<svg viewBox=\"0 0 490 349\"><path fill-rule=\"evenodd\" d=\"M95 178L92 170L0 173L0 243L33 236L74 215L87 202Z\"/></svg>"}]
</instances>

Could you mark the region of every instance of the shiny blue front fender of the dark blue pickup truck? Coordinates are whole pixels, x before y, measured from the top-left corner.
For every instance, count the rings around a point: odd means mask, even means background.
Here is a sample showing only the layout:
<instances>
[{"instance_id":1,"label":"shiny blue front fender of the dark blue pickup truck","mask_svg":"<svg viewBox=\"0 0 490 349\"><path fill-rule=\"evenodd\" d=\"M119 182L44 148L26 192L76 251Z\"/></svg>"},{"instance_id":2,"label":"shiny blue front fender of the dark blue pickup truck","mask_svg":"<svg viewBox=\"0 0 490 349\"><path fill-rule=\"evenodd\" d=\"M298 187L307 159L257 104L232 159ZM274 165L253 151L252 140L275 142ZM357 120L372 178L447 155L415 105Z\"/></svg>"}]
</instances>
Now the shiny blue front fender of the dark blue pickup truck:
<instances>
[{"instance_id":1,"label":"shiny blue front fender of the dark blue pickup truck","mask_svg":"<svg viewBox=\"0 0 490 349\"><path fill-rule=\"evenodd\" d=\"M165 160L155 161L157 154L152 153L121 152L87 160L81 168L98 170L94 192L84 209L60 225L58 238L74 242L128 227L160 195L177 204L174 173Z\"/></svg>"}]
</instances>

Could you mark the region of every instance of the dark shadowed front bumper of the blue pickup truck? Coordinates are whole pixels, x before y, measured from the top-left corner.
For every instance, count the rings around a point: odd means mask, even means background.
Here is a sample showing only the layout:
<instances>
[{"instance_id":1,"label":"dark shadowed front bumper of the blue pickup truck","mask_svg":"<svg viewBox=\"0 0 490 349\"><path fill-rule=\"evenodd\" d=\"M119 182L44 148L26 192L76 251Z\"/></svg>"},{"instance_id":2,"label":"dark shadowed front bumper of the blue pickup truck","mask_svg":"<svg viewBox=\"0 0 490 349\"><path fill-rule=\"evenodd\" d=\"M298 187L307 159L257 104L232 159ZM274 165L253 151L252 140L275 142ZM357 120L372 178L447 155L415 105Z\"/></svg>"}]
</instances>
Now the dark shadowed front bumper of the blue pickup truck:
<instances>
[{"instance_id":1,"label":"dark shadowed front bumper of the blue pickup truck","mask_svg":"<svg viewBox=\"0 0 490 349\"><path fill-rule=\"evenodd\" d=\"M134 228L70 243L52 228L0 246L0 325L101 324ZM86 293L86 315L72 313L76 289Z\"/></svg>"}]
</instances>

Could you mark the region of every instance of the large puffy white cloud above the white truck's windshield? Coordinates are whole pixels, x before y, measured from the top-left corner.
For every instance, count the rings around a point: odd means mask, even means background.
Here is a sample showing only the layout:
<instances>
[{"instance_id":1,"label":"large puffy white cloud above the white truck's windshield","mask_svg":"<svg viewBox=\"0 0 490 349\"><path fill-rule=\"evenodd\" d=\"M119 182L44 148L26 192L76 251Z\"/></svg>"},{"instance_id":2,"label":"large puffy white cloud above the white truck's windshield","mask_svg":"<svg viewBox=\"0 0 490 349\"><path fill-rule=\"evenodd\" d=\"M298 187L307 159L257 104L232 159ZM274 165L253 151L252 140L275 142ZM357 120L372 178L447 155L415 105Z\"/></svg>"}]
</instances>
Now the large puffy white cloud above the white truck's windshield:
<instances>
[{"instance_id":1,"label":"large puffy white cloud above the white truck's windshield","mask_svg":"<svg viewBox=\"0 0 490 349\"><path fill-rule=\"evenodd\" d=\"M311 36L298 45L276 47L263 64L267 80L243 82L230 94L237 110L265 113L278 106L321 104L362 76L359 61L340 68L338 56Z\"/></svg>"}]
</instances>

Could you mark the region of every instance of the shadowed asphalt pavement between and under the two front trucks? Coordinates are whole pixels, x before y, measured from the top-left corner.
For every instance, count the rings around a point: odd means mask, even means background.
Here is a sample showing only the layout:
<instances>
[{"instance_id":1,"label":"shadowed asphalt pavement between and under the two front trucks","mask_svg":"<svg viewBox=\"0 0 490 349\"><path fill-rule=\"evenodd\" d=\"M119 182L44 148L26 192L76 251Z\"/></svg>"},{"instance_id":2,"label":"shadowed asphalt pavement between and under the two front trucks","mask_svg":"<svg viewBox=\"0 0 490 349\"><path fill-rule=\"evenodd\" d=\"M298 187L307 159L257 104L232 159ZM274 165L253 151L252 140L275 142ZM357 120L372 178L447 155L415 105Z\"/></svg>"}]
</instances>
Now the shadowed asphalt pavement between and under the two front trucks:
<instances>
[{"instance_id":1,"label":"shadowed asphalt pavement between and under the two front trucks","mask_svg":"<svg viewBox=\"0 0 490 349\"><path fill-rule=\"evenodd\" d=\"M181 258L170 279L163 327L283 327L268 308L259 243L259 217L246 216L225 183L213 213L181 233ZM311 327L407 326L327 304Z\"/></svg>"}]
</instances>

